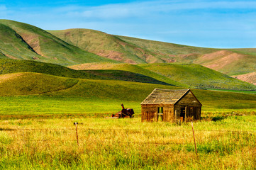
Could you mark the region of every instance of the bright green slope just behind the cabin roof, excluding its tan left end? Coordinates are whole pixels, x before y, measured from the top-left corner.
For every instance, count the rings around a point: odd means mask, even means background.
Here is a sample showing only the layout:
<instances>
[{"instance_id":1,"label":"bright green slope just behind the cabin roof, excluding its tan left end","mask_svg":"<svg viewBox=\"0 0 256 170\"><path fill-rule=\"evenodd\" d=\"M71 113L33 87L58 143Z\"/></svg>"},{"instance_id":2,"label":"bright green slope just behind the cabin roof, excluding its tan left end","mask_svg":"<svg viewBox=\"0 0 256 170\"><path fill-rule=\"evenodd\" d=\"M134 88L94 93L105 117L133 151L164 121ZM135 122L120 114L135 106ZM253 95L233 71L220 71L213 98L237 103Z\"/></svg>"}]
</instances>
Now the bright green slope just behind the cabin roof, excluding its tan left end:
<instances>
[{"instance_id":1,"label":"bright green slope just behind the cabin roof, excluding its tan left end","mask_svg":"<svg viewBox=\"0 0 256 170\"><path fill-rule=\"evenodd\" d=\"M140 67L169 79L187 84L190 88L199 89L247 89L255 90L256 86L245 81L228 77L199 64L140 64Z\"/></svg>"}]
</instances>

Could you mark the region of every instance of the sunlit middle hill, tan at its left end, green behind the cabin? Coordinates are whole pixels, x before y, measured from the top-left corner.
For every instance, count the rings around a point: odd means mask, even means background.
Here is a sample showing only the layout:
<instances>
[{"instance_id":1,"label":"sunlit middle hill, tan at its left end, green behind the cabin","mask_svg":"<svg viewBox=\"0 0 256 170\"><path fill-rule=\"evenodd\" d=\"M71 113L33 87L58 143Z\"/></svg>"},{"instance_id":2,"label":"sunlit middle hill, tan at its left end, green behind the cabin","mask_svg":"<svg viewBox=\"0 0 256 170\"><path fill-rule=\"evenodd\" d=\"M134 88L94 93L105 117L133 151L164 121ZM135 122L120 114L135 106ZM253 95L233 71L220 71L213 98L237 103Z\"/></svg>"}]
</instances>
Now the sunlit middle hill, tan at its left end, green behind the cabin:
<instances>
[{"instance_id":1,"label":"sunlit middle hill, tan at its left end, green behind the cabin","mask_svg":"<svg viewBox=\"0 0 256 170\"><path fill-rule=\"evenodd\" d=\"M158 81L184 88L255 90L253 84L228 77L199 64L79 64L73 69L114 69L143 74Z\"/></svg>"}]
</instances>

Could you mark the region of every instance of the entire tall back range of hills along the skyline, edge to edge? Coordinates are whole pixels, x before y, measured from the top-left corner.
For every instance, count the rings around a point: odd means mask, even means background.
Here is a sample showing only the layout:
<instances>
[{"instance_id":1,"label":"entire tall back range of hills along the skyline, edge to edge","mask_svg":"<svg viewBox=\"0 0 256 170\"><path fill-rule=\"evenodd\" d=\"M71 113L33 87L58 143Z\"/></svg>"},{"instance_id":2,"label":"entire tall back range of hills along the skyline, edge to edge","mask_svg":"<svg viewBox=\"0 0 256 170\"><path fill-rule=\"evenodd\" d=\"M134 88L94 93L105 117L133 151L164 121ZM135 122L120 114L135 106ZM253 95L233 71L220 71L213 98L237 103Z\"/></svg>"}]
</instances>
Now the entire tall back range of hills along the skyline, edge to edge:
<instances>
[{"instance_id":1,"label":"entire tall back range of hills along the skyline, edge to edge","mask_svg":"<svg viewBox=\"0 0 256 170\"><path fill-rule=\"evenodd\" d=\"M228 75L256 71L255 49L212 49L109 35L97 30L45 31L0 20L0 57L64 66L89 62L196 63Z\"/></svg>"}]
</instances>

